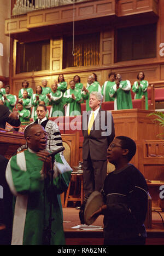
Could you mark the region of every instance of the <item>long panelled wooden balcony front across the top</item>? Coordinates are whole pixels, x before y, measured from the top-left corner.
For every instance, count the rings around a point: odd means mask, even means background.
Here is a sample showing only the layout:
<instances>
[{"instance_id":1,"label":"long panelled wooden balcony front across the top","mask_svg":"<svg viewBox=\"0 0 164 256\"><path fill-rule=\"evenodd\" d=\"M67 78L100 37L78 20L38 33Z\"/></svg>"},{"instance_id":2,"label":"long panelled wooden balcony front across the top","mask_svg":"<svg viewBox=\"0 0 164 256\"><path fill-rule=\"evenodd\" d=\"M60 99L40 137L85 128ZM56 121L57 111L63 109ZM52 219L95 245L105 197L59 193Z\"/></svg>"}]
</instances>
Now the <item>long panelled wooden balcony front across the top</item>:
<instances>
[{"instance_id":1,"label":"long panelled wooden balcony front across the top","mask_svg":"<svg viewBox=\"0 0 164 256\"><path fill-rule=\"evenodd\" d=\"M34 10L5 20L5 35L24 40L35 32L57 35L61 31L72 31L73 14L75 30L95 29L114 24L120 17L130 15L157 16L157 0L97 0L62 5L55 8ZM55 35L54 35L55 34ZM58 36L58 35L57 35Z\"/></svg>"}]
</instances>

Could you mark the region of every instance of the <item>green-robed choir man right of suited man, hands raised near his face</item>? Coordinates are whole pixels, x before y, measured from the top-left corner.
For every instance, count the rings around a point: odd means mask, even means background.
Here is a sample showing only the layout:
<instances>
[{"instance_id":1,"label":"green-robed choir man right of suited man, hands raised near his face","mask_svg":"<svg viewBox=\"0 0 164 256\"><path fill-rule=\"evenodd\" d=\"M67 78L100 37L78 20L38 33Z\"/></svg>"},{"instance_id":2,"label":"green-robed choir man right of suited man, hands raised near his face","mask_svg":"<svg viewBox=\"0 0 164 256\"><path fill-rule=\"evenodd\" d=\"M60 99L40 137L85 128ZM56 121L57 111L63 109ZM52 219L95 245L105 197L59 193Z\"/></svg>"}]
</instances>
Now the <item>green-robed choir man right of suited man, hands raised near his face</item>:
<instances>
[{"instance_id":1,"label":"green-robed choir man right of suited man, hands raised near his face","mask_svg":"<svg viewBox=\"0 0 164 256\"><path fill-rule=\"evenodd\" d=\"M120 74L116 74L116 81L109 91L110 97L114 97L114 110L132 109L131 83L122 81Z\"/></svg>"}]
</instances>

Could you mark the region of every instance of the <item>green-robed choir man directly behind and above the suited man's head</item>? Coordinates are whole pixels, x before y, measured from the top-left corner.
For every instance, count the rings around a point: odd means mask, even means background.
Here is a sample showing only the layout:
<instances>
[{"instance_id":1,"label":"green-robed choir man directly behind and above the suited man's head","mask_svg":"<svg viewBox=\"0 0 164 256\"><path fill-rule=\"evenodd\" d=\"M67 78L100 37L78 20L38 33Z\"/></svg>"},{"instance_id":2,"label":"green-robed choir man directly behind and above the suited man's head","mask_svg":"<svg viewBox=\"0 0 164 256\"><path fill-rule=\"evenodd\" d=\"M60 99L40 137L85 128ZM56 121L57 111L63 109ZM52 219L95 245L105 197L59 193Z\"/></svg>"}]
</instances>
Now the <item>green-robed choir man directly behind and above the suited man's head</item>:
<instances>
[{"instance_id":1,"label":"green-robed choir man directly behind and above the suited man's head","mask_svg":"<svg viewBox=\"0 0 164 256\"><path fill-rule=\"evenodd\" d=\"M90 93L91 92L99 92L101 93L101 86L99 83L93 82L94 78L93 76L89 76L87 78L87 86L84 87L83 93L81 94L82 98L86 100L86 111L91 110L91 107L89 106L89 100L90 100Z\"/></svg>"}]
</instances>

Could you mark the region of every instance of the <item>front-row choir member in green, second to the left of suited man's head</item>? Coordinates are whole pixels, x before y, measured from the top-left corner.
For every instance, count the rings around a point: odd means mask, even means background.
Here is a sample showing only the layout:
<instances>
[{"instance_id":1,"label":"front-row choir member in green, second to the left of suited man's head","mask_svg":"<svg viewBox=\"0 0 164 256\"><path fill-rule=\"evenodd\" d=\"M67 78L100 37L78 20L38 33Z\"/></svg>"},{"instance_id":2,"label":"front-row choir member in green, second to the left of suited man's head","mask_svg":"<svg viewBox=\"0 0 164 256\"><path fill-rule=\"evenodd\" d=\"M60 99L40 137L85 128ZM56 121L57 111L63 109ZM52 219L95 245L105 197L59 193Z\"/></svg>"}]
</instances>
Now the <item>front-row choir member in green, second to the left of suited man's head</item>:
<instances>
[{"instance_id":1,"label":"front-row choir member in green, second to the left of suited man's head","mask_svg":"<svg viewBox=\"0 0 164 256\"><path fill-rule=\"evenodd\" d=\"M52 92L50 94L47 94L50 105L52 105L50 110L50 117L52 116L65 116L65 109L62 104L62 92L60 90L57 90L57 81L52 84Z\"/></svg>"}]
</instances>

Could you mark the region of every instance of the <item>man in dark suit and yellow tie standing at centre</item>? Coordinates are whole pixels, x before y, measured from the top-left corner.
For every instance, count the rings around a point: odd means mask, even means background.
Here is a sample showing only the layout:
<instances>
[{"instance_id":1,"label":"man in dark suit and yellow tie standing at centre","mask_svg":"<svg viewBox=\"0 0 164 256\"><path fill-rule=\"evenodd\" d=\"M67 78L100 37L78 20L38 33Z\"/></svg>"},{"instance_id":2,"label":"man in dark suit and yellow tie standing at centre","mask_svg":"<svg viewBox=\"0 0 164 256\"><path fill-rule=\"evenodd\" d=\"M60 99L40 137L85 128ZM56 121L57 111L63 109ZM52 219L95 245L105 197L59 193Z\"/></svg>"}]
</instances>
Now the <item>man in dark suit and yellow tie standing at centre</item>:
<instances>
[{"instance_id":1,"label":"man in dark suit and yellow tie standing at centre","mask_svg":"<svg viewBox=\"0 0 164 256\"><path fill-rule=\"evenodd\" d=\"M101 110L101 102L101 93L92 92L89 100L91 111L83 112L83 179L86 199L93 191L100 192L103 188L107 175L107 149L115 136L112 113Z\"/></svg>"}]
</instances>

